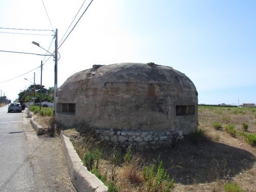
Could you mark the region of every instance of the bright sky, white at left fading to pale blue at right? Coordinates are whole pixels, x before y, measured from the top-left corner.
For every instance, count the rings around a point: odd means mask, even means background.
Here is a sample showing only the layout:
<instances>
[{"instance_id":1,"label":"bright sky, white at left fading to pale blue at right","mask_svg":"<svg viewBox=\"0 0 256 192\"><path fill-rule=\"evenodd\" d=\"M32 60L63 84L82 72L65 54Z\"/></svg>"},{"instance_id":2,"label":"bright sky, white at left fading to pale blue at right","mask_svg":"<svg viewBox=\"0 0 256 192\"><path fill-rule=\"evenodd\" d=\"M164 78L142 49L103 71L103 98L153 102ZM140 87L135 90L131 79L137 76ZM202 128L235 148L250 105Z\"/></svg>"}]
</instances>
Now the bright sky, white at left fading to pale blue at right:
<instances>
[{"instance_id":1,"label":"bright sky, white at left fading to pale blue at right","mask_svg":"<svg viewBox=\"0 0 256 192\"><path fill-rule=\"evenodd\" d=\"M13 101L34 73L40 84L41 60L42 84L54 86L53 57L3 51L53 53L58 29L58 87L95 64L154 62L188 76L200 104L256 103L256 1L94 0L75 26L90 2L0 1L2 96Z\"/></svg>"}]
</instances>

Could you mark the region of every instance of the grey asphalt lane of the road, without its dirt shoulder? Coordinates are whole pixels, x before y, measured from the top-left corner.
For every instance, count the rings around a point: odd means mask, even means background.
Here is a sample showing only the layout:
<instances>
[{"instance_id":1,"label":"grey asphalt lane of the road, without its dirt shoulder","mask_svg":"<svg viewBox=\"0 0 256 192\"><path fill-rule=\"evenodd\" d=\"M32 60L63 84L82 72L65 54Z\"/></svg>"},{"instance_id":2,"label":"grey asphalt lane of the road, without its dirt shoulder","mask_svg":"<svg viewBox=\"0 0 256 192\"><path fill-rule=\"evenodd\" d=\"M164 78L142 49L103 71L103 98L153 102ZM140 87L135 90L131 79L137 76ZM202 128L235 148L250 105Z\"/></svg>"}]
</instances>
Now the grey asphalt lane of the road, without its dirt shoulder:
<instances>
[{"instance_id":1,"label":"grey asphalt lane of the road, without its dirt shoulder","mask_svg":"<svg viewBox=\"0 0 256 192\"><path fill-rule=\"evenodd\" d=\"M23 113L0 108L1 191L36 191L22 121Z\"/></svg>"}]
</instances>

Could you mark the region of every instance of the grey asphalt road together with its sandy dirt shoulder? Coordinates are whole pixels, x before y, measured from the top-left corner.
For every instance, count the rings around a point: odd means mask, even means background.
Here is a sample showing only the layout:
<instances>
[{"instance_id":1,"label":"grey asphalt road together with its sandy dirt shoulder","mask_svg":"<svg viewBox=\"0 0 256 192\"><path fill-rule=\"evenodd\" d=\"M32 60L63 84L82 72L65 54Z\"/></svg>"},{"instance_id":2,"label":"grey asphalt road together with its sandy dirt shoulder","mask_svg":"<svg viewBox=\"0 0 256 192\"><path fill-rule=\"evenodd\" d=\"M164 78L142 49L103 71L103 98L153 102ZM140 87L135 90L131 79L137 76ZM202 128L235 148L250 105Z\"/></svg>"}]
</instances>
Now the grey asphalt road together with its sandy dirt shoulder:
<instances>
[{"instance_id":1,"label":"grey asphalt road together with its sandy dirt shoulder","mask_svg":"<svg viewBox=\"0 0 256 192\"><path fill-rule=\"evenodd\" d=\"M0 108L0 191L76 191L58 137L37 136L22 113Z\"/></svg>"}]
</instances>

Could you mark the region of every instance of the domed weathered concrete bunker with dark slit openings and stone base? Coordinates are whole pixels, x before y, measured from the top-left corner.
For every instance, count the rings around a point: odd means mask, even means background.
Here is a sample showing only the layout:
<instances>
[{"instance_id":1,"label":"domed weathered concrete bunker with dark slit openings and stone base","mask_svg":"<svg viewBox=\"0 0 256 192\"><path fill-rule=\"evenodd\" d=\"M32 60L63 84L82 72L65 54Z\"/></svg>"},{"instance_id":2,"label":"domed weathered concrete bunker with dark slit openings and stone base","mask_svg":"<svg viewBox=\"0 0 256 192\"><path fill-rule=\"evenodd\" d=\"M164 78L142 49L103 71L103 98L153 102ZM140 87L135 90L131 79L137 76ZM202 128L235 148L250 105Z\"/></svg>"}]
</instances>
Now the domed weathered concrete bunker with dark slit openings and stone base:
<instances>
[{"instance_id":1,"label":"domed weathered concrete bunker with dark slit openings and stone base","mask_svg":"<svg viewBox=\"0 0 256 192\"><path fill-rule=\"evenodd\" d=\"M94 65L59 88L56 120L67 127L86 123L108 144L154 148L195 131L198 94L172 67Z\"/></svg>"}]
</instances>

